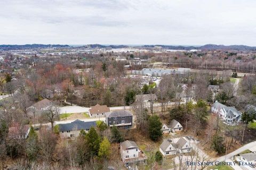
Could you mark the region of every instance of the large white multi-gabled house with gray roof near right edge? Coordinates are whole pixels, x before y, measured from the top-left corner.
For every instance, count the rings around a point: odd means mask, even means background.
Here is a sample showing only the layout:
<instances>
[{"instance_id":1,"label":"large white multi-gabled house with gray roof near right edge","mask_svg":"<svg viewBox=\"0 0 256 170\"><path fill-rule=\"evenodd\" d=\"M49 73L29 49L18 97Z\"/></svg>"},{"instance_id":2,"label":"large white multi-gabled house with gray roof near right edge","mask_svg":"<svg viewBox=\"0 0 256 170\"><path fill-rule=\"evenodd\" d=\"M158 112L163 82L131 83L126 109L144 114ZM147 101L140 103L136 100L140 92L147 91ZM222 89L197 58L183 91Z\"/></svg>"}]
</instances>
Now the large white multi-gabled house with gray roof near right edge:
<instances>
[{"instance_id":1,"label":"large white multi-gabled house with gray roof near right edge","mask_svg":"<svg viewBox=\"0 0 256 170\"><path fill-rule=\"evenodd\" d=\"M226 123L235 124L241 122L242 113L235 107L228 107L215 101L211 107L212 113L218 114Z\"/></svg>"}]
</instances>

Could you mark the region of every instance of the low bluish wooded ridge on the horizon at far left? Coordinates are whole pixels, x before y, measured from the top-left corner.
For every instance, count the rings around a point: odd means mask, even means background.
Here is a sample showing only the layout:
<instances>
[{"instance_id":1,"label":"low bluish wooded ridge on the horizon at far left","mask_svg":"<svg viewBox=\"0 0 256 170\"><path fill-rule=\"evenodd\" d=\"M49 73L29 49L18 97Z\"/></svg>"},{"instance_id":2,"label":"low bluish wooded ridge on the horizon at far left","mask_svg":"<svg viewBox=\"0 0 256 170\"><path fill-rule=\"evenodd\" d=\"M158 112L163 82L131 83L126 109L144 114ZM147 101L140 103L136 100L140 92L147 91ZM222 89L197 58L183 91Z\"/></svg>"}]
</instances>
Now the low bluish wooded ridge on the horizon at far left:
<instances>
[{"instance_id":1,"label":"low bluish wooded ridge on the horizon at far left","mask_svg":"<svg viewBox=\"0 0 256 170\"><path fill-rule=\"evenodd\" d=\"M33 48L67 48L69 45L59 44L25 44L25 45L0 45L0 49L14 50L14 49L33 49Z\"/></svg>"}]
</instances>

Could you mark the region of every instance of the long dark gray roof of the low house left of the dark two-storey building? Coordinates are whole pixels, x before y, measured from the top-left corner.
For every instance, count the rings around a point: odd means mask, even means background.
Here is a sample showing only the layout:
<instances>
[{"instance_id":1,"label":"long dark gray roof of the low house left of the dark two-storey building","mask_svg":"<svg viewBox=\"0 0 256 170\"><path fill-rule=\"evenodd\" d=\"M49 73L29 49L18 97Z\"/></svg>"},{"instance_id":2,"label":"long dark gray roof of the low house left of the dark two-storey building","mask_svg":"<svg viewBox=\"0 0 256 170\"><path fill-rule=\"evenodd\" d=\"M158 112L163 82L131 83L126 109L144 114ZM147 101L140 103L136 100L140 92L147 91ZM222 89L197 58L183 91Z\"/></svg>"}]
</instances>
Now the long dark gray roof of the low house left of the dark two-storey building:
<instances>
[{"instance_id":1,"label":"long dark gray roof of the low house left of the dark two-storey building","mask_svg":"<svg viewBox=\"0 0 256 170\"><path fill-rule=\"evenodd\" d=\"M75 120L74 122L67 124L59 124L59 131L73 131L73 130L85 130L90 129L92 126L96 127L96 122L84 122Z\"/></svg>"}]
</instances>

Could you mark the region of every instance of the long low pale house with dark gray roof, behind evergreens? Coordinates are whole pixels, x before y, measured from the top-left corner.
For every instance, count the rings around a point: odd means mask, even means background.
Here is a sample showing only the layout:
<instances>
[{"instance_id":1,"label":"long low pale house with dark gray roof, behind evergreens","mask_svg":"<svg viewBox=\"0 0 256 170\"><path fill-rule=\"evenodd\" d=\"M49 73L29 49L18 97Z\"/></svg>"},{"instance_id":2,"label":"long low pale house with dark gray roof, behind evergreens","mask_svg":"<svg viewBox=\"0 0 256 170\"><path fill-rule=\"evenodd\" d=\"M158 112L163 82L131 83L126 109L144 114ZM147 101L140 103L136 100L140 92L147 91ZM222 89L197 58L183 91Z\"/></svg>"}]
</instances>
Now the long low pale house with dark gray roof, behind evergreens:
<instances>
[{"instance_id":1,"label":"long low pale house with dark gray roof, behind evergreens","mask_svg":"<svg viewBox=\"0 0 256 170\"><path fill-rule=\"evenodd\" d=\"M96 127L95 121L84 122L80 120L75 120L71 123L59 124L60 138L78 137L81 130L84 130L87 133L91 127Z\"/></svg>"}]
</instances>

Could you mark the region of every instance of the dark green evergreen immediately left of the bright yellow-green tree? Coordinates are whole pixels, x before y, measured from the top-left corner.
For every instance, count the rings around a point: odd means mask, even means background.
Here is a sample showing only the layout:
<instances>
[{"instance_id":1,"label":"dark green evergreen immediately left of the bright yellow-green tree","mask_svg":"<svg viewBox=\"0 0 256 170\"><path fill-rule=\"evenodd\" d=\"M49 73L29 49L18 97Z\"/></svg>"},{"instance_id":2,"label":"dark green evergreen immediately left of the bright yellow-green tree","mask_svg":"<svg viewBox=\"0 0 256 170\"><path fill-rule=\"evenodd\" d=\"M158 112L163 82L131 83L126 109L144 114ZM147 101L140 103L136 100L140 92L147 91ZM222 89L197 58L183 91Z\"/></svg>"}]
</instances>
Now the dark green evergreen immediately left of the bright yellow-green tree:
<instances>
[{"instance_id":1,"label":"dark green evergreen immediately left of the bright yellow-green tree","mask_svg":"<svg viewBox=\"0 0 256 170\"><path fill-rule=\"evenodd\" d=\"M97 155L100 148L100 138L96 130L91 127L89 132L85 135L85 140L89 147L90 154Z\"/></svg>"}]
</instances>

